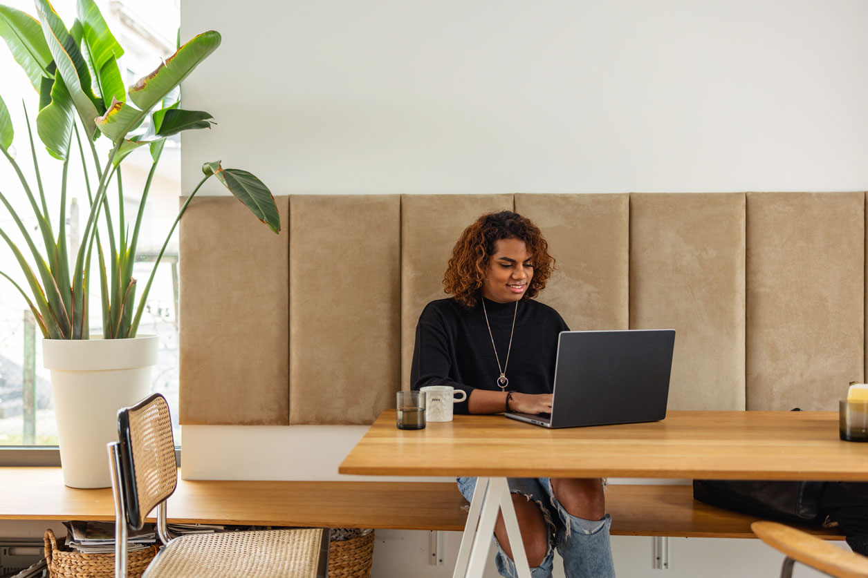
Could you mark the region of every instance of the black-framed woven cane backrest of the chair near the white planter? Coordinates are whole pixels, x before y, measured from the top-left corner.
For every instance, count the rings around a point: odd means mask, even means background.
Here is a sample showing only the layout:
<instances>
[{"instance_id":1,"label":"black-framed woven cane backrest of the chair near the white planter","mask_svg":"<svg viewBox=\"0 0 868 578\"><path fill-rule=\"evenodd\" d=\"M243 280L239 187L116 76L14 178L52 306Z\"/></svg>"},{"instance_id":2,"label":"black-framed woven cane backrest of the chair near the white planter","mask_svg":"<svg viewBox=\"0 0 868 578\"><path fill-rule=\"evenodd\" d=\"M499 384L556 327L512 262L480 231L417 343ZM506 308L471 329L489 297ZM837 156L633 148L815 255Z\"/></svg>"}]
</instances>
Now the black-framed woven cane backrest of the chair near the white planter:
<instances>
[{"instance_id":1,"label":"black-framed woven cane backrest of the chair near the white planter","mask_svg":"<svg viewBox=\"0 0 868 578\"><path fill-rule=\"evenodd\" d=\"M151 510L178 485L172 419L168 403L159 393L124 407L117 414L121 454L121 485L127 522L141 529Z\"/></svg>"}]
</instances>

